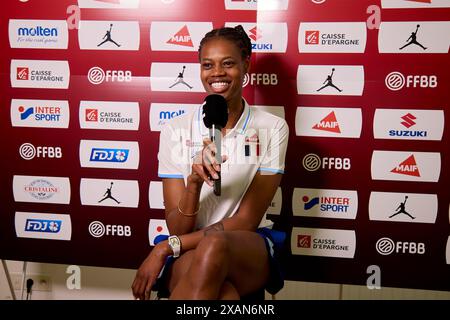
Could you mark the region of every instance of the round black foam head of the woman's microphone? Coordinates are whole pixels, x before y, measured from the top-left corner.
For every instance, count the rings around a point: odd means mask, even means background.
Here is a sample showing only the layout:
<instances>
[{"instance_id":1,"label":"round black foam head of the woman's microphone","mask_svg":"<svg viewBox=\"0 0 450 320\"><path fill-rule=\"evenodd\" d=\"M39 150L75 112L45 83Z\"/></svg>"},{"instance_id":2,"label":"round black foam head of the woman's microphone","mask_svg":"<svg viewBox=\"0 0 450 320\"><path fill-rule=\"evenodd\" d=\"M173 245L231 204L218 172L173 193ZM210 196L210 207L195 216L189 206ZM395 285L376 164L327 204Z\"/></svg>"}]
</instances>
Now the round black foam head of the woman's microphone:
<instances>
[{"instance_id":1,"label":"round black foam head of the woman's microphone","mask_svg":"<svg viewBox=\"0 0 450 320\"><path fill-rule=\"evenodd\" d=\"M224 128L228 121L227 101L220 94L210 94L203 104L203 123L207 128L216 125Z\"/></svg>"}]
</instances>

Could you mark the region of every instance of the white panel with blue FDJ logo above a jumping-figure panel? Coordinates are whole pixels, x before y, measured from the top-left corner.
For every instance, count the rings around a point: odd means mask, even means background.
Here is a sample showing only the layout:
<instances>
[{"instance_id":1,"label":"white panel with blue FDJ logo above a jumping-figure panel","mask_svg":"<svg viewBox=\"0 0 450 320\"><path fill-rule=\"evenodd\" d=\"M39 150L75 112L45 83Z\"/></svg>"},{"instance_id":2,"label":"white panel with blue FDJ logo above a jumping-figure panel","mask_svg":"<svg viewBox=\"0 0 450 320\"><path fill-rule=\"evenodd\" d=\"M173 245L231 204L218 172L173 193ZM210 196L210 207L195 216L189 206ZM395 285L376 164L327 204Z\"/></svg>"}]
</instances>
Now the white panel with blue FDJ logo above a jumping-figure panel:
<instances>
[{"instance_id":1,"label":"white panel with blue FDJ logo above a jumping-figure panel","mask_svg":"<svg viewBox=\"0 0 450 320\"><path fill-rule=\"evenodd\" d=\"M135 141L81 140L80 163L88 168L137 169L139 145Z\"/></svg>"}]
</instances>

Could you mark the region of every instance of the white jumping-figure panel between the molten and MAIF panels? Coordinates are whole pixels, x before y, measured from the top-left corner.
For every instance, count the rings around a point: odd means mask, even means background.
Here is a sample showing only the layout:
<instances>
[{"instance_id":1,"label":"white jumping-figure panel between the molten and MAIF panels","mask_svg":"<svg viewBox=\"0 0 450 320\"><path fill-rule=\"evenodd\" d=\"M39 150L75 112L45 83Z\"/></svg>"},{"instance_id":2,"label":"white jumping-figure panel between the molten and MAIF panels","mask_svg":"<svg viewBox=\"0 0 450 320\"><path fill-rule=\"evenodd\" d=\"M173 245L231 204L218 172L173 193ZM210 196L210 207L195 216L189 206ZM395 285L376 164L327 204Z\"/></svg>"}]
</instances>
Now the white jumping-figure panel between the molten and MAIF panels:
<instances>
[{"instance_id":1,"label":"white jumping-figure panel between the molten and MAIF panels","mask_svg":"<svg viewBox=\"0 0 450 320\"><path fill-rule=\"evenodd\" d=\"M82 20L78 29L81 50L139 50L138 21Z\"/></svg>"}]
</instances>

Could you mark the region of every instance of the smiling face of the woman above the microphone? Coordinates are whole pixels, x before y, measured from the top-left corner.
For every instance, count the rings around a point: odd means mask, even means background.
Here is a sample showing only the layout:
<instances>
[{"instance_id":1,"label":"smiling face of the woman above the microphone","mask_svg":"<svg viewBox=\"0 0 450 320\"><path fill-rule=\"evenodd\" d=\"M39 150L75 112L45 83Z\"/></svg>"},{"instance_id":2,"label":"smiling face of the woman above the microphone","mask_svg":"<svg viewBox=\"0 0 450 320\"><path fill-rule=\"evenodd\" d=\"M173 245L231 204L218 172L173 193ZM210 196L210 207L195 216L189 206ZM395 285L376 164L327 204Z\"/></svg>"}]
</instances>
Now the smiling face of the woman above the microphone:
<instances>
[{"instance_id":1,"label":"smiling face of the woman above the microphone","mask_svg":"<svg viewBox=\"0 0 450 320\"><path fill-rule=\"evenodd\" d=\"M200 52L200 77L208 94L220 94L227 102L240 105L242 82L249 60L230 40L214 38L206 42Z\"/></svg>"}]
</instances>

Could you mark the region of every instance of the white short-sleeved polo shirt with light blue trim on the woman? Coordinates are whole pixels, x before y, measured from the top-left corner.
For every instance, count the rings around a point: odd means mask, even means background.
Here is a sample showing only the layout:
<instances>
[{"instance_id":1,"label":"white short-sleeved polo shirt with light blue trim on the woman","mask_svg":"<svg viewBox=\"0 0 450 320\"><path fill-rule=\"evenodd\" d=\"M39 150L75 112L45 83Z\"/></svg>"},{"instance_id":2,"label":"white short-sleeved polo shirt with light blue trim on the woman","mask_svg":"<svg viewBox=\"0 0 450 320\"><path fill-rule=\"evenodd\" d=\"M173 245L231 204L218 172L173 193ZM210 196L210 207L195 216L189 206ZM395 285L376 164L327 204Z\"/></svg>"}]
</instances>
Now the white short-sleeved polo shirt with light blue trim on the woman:
<instances>
[{"instance_id":1,"label":"white short-sleeved polo shirt with light blue trim on the woman","mask_svg":"<svg viewBox=\"0 0 450 320\"><path fill-rule=\"evenodd\" d=\"M249 107L244 101L239 121L222 137L222 155L228 156L221 165L222 193L216 196L212 187L206 183L203 185L196 229L233 216L257 171L284 173L288 136L289 128L284 119L257 107ZM202 106L168 122L160 135L158 176L182 178L186 184L193 159L203 149L203 139L208 137ZM260 227L271 224L264 216Z\"/></svg>"}]
</instances>

